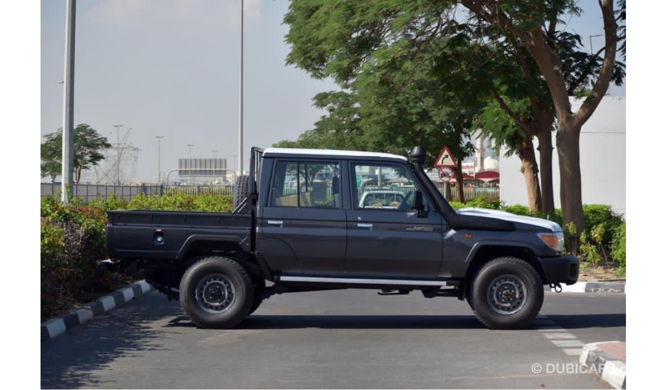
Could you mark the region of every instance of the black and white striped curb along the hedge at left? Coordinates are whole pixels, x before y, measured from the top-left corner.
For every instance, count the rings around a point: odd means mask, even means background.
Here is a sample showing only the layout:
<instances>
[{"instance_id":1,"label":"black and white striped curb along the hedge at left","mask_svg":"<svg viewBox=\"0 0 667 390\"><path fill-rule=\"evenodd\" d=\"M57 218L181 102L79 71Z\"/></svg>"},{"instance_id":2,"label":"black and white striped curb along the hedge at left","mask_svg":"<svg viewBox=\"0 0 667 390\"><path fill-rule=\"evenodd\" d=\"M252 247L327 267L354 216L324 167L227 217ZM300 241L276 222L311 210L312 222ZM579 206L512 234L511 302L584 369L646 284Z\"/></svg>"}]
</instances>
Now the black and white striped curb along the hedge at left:
<instances>
[{"instance_id":1,"label":"black and white striped curb along the hedge at left","mask_svg":"<svg viewBox=\"0 0 667 390\"><path fill-rule=\"evenodd\" d=\"M41 342L53 339L53 337L61 335L77 325L108 313L127 301L148 293L152 289L153 287L146 283L146 281L138 281L109 295L100 297L97 301L83 305L75 311L44 321L41 323Z\"/></svg>"}]
</instances>

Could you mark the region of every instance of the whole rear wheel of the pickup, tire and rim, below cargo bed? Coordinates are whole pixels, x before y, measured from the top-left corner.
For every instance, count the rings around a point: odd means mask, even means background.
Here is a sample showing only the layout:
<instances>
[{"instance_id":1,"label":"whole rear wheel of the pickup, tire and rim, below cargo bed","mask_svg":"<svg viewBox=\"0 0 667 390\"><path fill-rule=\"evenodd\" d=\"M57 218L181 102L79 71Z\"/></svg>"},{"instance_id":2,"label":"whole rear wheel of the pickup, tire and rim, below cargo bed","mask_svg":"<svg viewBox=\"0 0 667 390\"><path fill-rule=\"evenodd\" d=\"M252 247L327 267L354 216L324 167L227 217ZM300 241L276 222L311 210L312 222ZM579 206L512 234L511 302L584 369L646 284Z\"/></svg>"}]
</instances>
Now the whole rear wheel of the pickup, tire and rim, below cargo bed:
<instances>
[{"instance_id":1,"label":"whole rear wheel of the pickup, tire and rim, below cargo bed","mask_svg":"<svg viewBox=\"0 0 667 390\"><path fill-rule=\"evenodd\" d=\"M183 309L197 326L231 328L247 317L255 301L255 288L237 261L212 256L185 271L180 298Z\"/></svg>"}]
</instances>

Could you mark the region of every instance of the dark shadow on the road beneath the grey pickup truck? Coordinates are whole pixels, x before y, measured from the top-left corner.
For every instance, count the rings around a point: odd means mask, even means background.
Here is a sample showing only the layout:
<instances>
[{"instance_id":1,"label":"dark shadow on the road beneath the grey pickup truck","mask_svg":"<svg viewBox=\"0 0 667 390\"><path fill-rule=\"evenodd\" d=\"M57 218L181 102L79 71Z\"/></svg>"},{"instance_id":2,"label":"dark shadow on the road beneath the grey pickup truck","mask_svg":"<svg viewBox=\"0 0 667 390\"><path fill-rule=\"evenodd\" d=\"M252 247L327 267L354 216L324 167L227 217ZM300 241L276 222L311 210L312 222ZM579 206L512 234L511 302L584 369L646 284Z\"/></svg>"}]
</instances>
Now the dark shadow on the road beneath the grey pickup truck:
<instances>
[{"instance_id":1,"label":"dark shadow on the road beneath the grey pickup truck","mask_svg":"<svg viewBox=\"0 0 667 390\"><path fill-rule=\"evenodd\" d=\"M550 315L566 329L625 327L626 315ZM538 324L536 324L538 325ZM527 329L535 329L531 325ZM169 327L196 327L185 315L175 317ZM237 329L483 329L474 315L263 315L255 314Z\"/></svg>"}]
</instances>

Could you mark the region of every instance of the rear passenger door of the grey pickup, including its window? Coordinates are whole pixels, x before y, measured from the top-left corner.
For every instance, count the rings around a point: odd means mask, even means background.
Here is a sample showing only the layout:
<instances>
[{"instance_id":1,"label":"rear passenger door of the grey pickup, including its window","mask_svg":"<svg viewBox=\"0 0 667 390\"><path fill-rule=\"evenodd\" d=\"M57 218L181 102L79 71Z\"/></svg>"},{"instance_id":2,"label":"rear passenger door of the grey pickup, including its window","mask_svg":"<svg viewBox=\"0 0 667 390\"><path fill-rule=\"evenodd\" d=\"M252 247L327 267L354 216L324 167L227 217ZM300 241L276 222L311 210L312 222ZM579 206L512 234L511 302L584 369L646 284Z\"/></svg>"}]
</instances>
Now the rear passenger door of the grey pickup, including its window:
<instances>
[{"instance_id":1,"label":"rear passenger door of the grey pickup, including its window","mask_svg":"<svg viewBox=\"0 0 667 390\"><path fill-rule=\"evenodd\" d=\"M283 274L342 276L346 247L338 160L277 159L257 213L257 251Z\"/></svg>"}]
</instances>

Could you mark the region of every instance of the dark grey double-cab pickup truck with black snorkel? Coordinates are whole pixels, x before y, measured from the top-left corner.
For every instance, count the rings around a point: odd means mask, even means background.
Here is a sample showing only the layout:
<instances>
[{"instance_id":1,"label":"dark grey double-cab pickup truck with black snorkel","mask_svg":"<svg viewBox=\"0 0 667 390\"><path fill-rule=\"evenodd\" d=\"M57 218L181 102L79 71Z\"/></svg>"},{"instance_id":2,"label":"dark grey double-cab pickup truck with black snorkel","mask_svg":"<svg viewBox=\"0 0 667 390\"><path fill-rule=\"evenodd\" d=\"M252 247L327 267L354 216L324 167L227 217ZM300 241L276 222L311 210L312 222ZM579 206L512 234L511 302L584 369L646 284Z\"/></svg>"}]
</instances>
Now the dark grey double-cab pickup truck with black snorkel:
<instances>
[{"instance_id":1,"label":"dark grey double-cab pickup truck with black snorkel","mask_svg":"<svg viewBox=\"0 0 667 390\"><path fill-rule=\"evenodd\" d=\"M454 211L426 151L251 150L231 213L110 211L107 248L204 328L230 328L273 294L377 289L468 301L492 329L526 327L544 285L577 281L552 221Z\"/></svg>"}]
</instances>

